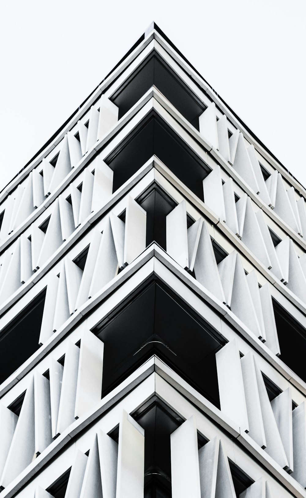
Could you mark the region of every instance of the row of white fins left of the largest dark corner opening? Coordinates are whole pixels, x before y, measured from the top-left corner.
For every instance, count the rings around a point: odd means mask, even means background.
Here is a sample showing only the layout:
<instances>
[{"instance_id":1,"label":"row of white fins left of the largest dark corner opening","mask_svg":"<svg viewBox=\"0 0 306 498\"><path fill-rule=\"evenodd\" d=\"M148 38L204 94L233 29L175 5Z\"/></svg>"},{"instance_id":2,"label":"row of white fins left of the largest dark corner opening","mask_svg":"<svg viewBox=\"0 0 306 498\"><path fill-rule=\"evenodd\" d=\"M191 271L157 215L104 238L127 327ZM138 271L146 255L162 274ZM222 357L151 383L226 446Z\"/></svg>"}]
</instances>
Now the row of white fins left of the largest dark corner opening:
<instances>
[{"instance_id":1,"label":"row of white fins left of the largest dark corner opening","mask_svg":"<svg viewBox=\"0 0 306 498\"><path fill-rule=\"evenodd\" d=\"M50 358L49 379L35 372L19 416L0 404L0 486L5 488L55 437L91 410L102 395L104 345L84 330L69 342L64 367Z\"/></svg>"}]
</instances>

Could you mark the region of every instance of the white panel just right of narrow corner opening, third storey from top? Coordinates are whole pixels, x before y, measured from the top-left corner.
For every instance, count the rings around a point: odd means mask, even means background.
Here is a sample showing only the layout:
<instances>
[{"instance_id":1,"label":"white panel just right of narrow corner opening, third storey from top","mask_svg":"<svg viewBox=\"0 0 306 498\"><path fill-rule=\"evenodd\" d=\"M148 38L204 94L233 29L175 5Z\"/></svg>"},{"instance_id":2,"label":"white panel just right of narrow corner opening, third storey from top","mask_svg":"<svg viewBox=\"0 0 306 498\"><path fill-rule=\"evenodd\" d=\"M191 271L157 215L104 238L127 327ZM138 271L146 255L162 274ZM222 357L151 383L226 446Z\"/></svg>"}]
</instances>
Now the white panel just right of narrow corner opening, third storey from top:
<instances>
[{"instance_id":1,"label":"white panel just right of narrow corner opening, third storey from top","mask_svg":"<svg viewBox=\"0 0 306 498\"><path fill-rule=\"evenodd\" d=\"M188 237L186 201L182 201L166 216L166 247L183 268L188 268Z\"/></svg>"}]
</instances>

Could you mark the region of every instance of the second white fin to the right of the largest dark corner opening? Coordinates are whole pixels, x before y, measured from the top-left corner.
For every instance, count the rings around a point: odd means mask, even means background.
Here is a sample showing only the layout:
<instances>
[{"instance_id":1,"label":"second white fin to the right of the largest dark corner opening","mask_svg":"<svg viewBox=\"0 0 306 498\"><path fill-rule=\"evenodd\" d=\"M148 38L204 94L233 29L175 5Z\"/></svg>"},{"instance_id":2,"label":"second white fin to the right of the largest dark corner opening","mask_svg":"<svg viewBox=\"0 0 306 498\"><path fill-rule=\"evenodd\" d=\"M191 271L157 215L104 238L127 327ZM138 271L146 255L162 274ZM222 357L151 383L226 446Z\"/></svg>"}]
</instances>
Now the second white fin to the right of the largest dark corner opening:
<instances>
[{"instance_id":1,"label":"second white fin to the right of the largest dark corner opening","mask_svg":"<svg viewBox=\"0 0 306 498\"><path fill-rule=\"evenodd\" d=\"M267 442L261 413L253 354L251 352L247 353L241 358L240 363L250 429L249 436L261 448L266 448Z\"/></svg>"}]
</instances>

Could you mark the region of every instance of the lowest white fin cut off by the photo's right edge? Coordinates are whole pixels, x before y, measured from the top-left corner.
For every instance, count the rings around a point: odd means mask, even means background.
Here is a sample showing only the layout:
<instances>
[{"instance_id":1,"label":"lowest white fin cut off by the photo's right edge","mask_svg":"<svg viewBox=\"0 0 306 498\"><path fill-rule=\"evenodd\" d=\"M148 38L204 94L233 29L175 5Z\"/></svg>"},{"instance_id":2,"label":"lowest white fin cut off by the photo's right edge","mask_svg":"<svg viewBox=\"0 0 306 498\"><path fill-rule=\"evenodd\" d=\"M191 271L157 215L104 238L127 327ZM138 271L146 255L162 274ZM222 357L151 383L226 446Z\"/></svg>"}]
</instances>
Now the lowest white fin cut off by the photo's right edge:
<instances>
[{"instance_id":1,"label":"lowest white fin cut off by the photo's right edge","mask_svg":"<svg viewBox=\"0 0 306 498\"><path fill-rule=\"evenodd\" d=\"M305 401L292 412L293 465L292 477L306 488L306 406Z\"/></svg>"}]
</instances>

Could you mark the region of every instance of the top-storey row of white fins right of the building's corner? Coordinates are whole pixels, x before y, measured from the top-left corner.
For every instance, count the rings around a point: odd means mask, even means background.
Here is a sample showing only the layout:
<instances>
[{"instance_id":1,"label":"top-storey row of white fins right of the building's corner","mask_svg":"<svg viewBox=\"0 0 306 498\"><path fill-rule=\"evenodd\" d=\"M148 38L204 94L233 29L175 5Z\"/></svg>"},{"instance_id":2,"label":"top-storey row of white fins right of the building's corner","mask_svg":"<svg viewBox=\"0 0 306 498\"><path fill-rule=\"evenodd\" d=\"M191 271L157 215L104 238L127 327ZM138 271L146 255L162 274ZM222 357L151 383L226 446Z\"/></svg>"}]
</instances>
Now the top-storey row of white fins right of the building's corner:
<instances>
[{"instance_id":1,"label":"top-storey row of white fins right of the building's corner","mask_svg":"<svg viewBox=\"0 0 306 498\"><path fill-rule=\"evenodd\" d=\"M228 138L227 118L223 115L218 121L215 104L212 103L200 116L200 133L217 149L225 161L259 194L261 199L301 237L306 234L305 201L295 197L295 189L285 188L282 175L275 170L264 179L254 145L246 146L243 134L237 129ZM213 195L213 192L211 192ZM224 220L225 221L225 220Z\"/></svg>"}]
</instances>

